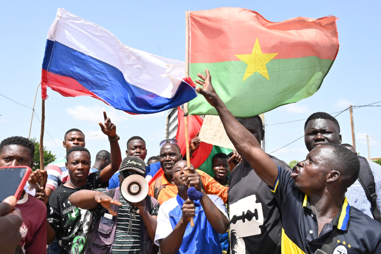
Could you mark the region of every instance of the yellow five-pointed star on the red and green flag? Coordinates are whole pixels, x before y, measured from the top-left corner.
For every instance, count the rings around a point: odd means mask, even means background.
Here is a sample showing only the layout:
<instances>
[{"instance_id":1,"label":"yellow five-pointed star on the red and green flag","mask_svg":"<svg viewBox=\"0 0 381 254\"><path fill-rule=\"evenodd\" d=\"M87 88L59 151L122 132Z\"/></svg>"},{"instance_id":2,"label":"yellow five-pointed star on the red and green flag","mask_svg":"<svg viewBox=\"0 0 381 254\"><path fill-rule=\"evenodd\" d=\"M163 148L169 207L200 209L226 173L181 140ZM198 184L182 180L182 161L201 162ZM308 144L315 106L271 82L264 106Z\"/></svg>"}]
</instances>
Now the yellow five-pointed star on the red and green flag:
<instances>
[{"instance_id":1,"label":"yellow five-pointed star on the red and green flag","mask_svg":"<svg viewBox=\"0 0 381 254\"><path fill-rule=\"evenodd\" d=\"M242 81L253 75L255 72L258 72L270 80L268 77L266 64L270 62L271 59L275 58L277 54L278 53L263 54L258 38L255 40L253 52L251 54L236 54L235 56L237 58L248 65Z\"/></svg>"}]
</instances>

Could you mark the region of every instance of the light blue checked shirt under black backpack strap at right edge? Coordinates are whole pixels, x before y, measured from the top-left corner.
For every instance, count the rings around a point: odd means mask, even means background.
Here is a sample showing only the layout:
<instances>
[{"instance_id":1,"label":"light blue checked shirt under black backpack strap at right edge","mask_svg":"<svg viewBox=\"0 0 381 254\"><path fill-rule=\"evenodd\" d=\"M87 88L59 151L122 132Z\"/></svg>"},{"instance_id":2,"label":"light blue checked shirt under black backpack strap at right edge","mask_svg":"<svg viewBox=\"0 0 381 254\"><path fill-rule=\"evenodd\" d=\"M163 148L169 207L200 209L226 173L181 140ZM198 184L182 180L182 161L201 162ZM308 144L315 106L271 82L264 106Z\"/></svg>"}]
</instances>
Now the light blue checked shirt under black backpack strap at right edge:
<instances>
[{"instance_id":1,"label":"light blue checked shirt under black backpack strap at right edge","mask_svg":"<svg viewBox=\"0 0 381 254\"><path fill-rule=\"evenodd\" d=\"M373 161L368 162L373 174L374 183L376 184L377 208L381 211L381 165L378 165ZM350 206L356 207L369 217L373 218L372 206L367 199L363 186L361 186L359 180L356 180L356 182L348 188L345 196Z\"/></svg>"}]
</instances>

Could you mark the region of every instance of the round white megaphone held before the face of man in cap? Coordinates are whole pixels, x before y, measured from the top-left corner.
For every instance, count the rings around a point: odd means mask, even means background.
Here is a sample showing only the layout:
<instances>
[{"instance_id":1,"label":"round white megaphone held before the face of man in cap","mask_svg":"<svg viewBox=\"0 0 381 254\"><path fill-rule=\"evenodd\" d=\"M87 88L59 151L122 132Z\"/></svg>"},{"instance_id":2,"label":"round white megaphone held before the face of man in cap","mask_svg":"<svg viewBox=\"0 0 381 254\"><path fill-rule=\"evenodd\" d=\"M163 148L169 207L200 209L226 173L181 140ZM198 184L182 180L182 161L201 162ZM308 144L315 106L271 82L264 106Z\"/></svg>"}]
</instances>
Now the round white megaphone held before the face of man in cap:
<instances>
[{"instance_id":1,"label":"round white megaphone held before the face of man in cap","mask_svg":"<svg viewBox=\"0 0 381 254\"><path fill-rule=\"evenodd\" d=\"M125 200L138 203L144 200L149 191L147 180L140 175L131 175L124 179L120 192Z\"/></svg>"}]
</instances>

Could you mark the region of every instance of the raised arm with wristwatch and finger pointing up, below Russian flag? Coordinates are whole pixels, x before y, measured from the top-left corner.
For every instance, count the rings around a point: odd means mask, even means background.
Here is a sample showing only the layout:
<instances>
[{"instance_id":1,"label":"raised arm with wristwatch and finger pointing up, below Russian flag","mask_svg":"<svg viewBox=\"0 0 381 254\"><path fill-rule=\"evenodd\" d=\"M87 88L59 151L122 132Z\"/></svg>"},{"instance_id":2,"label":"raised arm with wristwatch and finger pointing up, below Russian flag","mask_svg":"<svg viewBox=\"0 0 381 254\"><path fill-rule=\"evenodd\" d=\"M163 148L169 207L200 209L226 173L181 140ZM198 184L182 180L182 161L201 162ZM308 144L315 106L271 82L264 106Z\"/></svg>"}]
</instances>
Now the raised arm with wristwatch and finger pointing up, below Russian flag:
<instances>
[{"instance_id":1,"label":"raised arm with wristwatch and finger pointing up, below Russian flag","mask_svg":"<svg viewBox=\"0 0 381 254\"><path fill-rule=\"evenodd\" d=\"M100 129L108 136L108 139L117 138L117 127L111 122L110 118L107 118L105 111L103 111L103 117L104 126L102 123L99 123ZM101 183L108 182L108 180L110 180L110 178L119 170L120 163L122 162L122 154L120 152L118 140L110 142L110 150L111 163L100 172Z\"/></svg>"}]
</instances>

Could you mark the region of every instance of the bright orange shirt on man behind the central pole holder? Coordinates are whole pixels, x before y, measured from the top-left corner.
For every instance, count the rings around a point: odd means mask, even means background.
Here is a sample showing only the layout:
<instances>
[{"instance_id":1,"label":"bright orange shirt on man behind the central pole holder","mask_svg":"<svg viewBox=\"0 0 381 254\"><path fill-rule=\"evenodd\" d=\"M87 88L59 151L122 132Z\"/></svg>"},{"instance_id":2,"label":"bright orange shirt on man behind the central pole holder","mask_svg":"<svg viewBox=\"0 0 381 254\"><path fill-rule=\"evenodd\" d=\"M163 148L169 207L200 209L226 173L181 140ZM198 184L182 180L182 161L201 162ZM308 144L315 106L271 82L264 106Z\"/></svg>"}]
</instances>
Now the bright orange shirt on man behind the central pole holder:
<instances>
[{"instance_id":1,"label":"bright orange shirt on man behind the central pole holder","mask_svg":"<svg viewBox=\"0 0 381 254\"><path fill-rule=\"evenodd\" d=\"M201 177L201 181L204 185L205 193L206 194L213 194L221 197L221 199L226 203L228 201L228 188L226 186L223 186L219 184L217 181L215 181L211 176L206 174L205 172L201 170L196 170L197 173L199 173ZM155 191L155 182L151 183L149 186L148 195L154 196ZM175 197L178 193L177 186L172 185L170 182L167 181L164 174L161 175L161 190L159 193L159 196L157 197L157 201L160 203L164 203L165 201L172 199L172 197Z\"/></svg>"}]
</instances>

